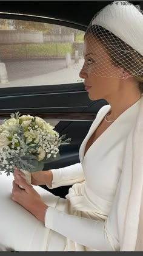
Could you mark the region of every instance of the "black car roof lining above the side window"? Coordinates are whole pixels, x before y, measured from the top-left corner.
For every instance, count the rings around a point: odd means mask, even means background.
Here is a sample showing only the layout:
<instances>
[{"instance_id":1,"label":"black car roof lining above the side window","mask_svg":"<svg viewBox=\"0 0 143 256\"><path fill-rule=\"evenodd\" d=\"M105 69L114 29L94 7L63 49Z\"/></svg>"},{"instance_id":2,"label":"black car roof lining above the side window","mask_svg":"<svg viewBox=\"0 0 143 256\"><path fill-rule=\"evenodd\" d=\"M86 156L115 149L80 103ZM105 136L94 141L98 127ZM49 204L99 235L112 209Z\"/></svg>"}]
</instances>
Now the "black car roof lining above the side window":
<instances>
[{"instance_id":1,"label":"black car roof lining above the side window","mask_svg":"<svg viewBox=\"0 0 143 256\"><path fill-rule=\"evenodd\" d=\"M42 15L87 27L95 13L110 3L111 1L2 1L1 12Z\"/></svg>"}]
</instances>

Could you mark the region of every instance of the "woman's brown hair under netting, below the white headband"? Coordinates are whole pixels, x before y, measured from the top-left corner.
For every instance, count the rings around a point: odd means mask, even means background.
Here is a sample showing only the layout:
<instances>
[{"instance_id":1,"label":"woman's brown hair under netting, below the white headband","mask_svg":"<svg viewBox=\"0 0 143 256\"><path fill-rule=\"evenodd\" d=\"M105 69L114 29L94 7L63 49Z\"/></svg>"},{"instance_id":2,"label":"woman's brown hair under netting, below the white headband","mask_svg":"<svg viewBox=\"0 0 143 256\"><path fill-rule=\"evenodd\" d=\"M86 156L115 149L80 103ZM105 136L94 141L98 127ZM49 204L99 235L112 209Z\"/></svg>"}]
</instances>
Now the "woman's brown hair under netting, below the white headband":
<instances>
[{"instance_id":1,"label":"woman's brown hair under netting, below the white headband","mask_svg":"<svg viewBox=\"0 0 143 256\"><path fill-rule=\"evenodd\" d=\"M101 26L92 25L88 27L84 38L88 35L95 37L104 46L114 66L123 68L130 72L131 76L139 84L139 90L143 93L143 57L127 43L116 37L109 30ZM122 54L124 52L124 54ZM142 68L141 68L142 67ZM140 71L140 72L139 72ZM139 74L139 75L138 75ZM141 74L141 75L140 75Z\"/></svg>"}]
</instances>

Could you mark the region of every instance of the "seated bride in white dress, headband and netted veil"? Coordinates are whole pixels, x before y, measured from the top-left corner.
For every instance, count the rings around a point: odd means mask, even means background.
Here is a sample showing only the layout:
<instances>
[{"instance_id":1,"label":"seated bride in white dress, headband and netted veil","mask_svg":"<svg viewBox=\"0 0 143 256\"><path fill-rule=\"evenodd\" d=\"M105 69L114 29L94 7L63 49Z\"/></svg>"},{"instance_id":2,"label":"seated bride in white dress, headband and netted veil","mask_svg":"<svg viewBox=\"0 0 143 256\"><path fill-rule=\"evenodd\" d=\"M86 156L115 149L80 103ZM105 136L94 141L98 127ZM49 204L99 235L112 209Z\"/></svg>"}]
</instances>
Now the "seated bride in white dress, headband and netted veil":
<instances>
[{"instance_id":1,"label":"seated bride in white dress, headband and netted veil","mask_svg":"<svg viewBox=\"0 0 143 256\"><path fill-rule=\"evenodd\" d=\"M117 4L118 3L118 4ZM1 251L143 251L143 16L113 2L91 20L80 77L105 99L80 163L0 177ZM62 199L38 187L73 185ZM21 190L22 185L25 190Z\"/></svg>"}]
</instances>

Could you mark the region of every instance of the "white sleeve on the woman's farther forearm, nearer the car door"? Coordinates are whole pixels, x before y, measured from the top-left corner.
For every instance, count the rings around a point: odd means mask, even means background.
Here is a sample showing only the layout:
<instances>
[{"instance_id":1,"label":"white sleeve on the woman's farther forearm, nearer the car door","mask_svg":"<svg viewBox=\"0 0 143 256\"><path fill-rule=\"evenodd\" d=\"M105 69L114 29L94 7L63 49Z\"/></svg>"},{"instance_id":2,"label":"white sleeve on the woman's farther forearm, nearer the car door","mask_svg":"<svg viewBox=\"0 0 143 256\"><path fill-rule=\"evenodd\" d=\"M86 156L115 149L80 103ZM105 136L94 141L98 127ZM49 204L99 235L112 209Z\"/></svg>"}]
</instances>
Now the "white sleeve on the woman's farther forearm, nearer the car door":
<instances>
[{"instance_id":1,"label":"white sleeve on the woman's farther forearm, nearer the car door","mask_svg":"<svg viewBox=\"0 0 143 256\"><path fill-rule=\"evenodd\" d=\"M84 172L81 163L70 165L64 168L52 169L53 180L52 187L73 185L84 181ZM48 186L47 186L48 187Z\"/></svg>"}]
</instances>

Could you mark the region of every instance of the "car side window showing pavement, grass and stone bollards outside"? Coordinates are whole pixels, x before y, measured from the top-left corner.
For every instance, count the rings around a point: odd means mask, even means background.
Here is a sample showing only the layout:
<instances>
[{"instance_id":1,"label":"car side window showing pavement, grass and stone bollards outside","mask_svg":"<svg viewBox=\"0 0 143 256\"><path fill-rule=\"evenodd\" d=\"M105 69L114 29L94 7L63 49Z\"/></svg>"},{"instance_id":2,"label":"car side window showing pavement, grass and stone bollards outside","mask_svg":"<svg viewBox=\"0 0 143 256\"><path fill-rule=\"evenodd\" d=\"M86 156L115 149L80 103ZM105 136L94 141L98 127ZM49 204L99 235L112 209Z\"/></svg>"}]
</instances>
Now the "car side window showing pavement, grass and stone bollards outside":
<instances>
[{"instance_id":1,"label":"car side window showing pavement, grass and stone bollards outside","mask_svg":"<svg viewBox=\"0 0 143 256\"><path fill-rule=\"evenodd\" d=\"M35 21L0 19L0 86L82 82L84 31Z\"/></svg>"}]
</instances>

